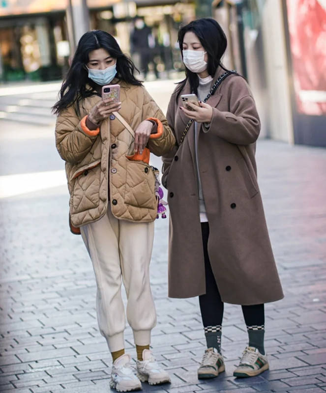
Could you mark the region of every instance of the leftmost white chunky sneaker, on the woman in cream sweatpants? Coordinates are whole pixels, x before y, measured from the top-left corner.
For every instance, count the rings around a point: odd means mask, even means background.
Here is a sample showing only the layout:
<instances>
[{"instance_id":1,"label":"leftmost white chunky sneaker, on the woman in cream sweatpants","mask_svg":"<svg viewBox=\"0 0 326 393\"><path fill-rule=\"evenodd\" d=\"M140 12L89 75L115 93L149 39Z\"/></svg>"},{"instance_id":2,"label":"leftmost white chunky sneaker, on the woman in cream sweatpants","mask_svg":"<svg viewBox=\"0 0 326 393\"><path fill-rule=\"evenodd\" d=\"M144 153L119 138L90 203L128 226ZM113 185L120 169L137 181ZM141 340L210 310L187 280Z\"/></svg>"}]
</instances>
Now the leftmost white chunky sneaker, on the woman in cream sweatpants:
<instances>
[{"instance_id":1,"label":"leftmost white chunky sneaker, on the woman in cream sweatpants","mask_svg":"<svg viewBox=\"0 0 326 393\"><path fill-rule=\"evenodd\" d=\"M110 387L118 392L130 392L142 389L142 383L133 373L130 356L123 354L112 365Z\"/></svg>"}]
</instances>

